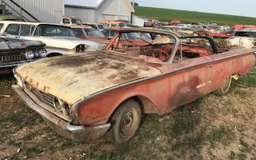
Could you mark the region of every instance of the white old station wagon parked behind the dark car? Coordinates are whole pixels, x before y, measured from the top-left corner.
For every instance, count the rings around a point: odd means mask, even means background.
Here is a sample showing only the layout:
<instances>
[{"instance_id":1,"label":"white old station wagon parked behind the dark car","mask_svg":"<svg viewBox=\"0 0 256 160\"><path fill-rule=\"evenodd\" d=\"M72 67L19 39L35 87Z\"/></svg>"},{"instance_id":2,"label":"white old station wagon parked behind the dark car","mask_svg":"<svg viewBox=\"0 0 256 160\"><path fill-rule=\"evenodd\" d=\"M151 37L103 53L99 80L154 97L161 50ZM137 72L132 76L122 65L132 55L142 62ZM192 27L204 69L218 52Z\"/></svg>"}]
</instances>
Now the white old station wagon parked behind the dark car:
<instances>
[{"instance_id":1,"label":"white old station wagon parked behind the dark car","mask_svg":"<svg viewBox=\"0 0 256 160\"><path fill-rule=\"evenodd\" d=\"M41 41L46 43L47 57L74 54L83 51L102 50L105 44L75 38L69 26L46 22L0 21L1 34L10 38Z\"/></svg>"}]
</instances>

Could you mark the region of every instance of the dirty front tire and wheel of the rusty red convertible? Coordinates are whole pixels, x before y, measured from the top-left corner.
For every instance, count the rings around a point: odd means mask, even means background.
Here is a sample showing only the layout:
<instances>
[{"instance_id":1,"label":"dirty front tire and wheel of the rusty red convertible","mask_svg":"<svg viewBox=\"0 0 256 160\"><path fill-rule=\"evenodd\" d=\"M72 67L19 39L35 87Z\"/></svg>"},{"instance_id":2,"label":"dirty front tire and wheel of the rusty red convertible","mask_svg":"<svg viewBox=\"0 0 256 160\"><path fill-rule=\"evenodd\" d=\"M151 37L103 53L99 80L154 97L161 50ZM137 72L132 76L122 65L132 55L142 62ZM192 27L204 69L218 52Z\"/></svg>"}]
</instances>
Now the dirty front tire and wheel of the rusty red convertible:
<instances>
[{"instance_id":1,"label":"dirty front tire and wheel of the rusty red convertible","mask_svg":"<svg viewBox=\"0 0 256 160\"><path fill-rule=\"evenodd\" d=\"M123 102L112 118L114 125L111 129L112 139L118 144L127 142L136 134L142 118L141 106L130 99Z\"/></svg>"}]
</instances>

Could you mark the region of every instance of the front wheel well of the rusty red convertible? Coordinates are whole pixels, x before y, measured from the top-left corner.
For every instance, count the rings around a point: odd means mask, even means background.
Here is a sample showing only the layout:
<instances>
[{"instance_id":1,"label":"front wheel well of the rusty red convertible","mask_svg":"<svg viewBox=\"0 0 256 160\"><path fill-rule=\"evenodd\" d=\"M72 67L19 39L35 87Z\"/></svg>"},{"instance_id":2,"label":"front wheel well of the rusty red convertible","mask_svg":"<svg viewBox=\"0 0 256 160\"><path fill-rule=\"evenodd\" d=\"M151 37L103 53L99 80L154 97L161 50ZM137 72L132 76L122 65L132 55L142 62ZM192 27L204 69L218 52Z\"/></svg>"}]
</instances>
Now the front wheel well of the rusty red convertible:
<instances>
[{"instance_id":1,"label":"front wheel well of the rusty red convertible","mask_svg":"<svg viewBox=\"0 0 256 160\"><path fill-rule=\"evenodd\" d=\"M141 106L142 109L142 114L156 114L158 113L158 108L157 106L155 106L154 102L151 102L150 99L145 98L143 96L134 96L131 98L127 98L126 100L124 100L123 102L121 102L117 108L115 108L114 112L111 114L109 121L111 121L111 119L113 118L114 113L116 112L116 110L118 110L119 106L122 105L122 103L133 99L134 101L138 102L139 106Z\"/></svg>"}]
</instances>

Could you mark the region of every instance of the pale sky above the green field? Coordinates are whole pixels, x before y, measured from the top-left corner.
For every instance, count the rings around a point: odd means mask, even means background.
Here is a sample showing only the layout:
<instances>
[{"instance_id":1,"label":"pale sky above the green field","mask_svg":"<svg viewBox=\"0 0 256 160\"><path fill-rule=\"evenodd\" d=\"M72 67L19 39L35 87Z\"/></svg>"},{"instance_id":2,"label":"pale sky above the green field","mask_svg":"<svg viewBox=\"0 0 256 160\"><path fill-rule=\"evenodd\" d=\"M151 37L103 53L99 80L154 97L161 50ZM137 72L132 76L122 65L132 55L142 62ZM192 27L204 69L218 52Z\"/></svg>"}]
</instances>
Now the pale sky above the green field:
<instances>
[{"instance_id":1,"label":"pale sky above the green field","mask_svg":"<svg viewBox=\"0 0 256 160\"><path fill-rule=\"evenodd\" d=\"M135 0L135 2L138 2L139 6L241 15L256 18L256 0Z\"/></svg>"}]
</instances>

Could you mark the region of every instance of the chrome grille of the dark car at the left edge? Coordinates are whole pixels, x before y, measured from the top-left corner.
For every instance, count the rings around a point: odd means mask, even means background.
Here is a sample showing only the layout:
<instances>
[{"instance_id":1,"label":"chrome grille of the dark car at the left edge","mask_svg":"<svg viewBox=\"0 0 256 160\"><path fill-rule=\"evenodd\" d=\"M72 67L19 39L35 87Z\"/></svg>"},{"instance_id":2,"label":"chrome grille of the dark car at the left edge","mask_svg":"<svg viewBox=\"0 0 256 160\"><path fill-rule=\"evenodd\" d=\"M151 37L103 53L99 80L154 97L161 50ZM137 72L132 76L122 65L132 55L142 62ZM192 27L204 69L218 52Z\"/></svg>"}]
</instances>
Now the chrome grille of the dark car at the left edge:
<instances>
[{"instance_id":1,"label":"chrome grille of the dark car at the left edge","mask_svg":"<svg viewBox=\"0 0 256 160\"><path fill-rule=\"evenodd\" d=\"M23 60L26 60L26 58L20 52L0 53L0 63L18 62Z\"/></svg>"}]
</instances>

